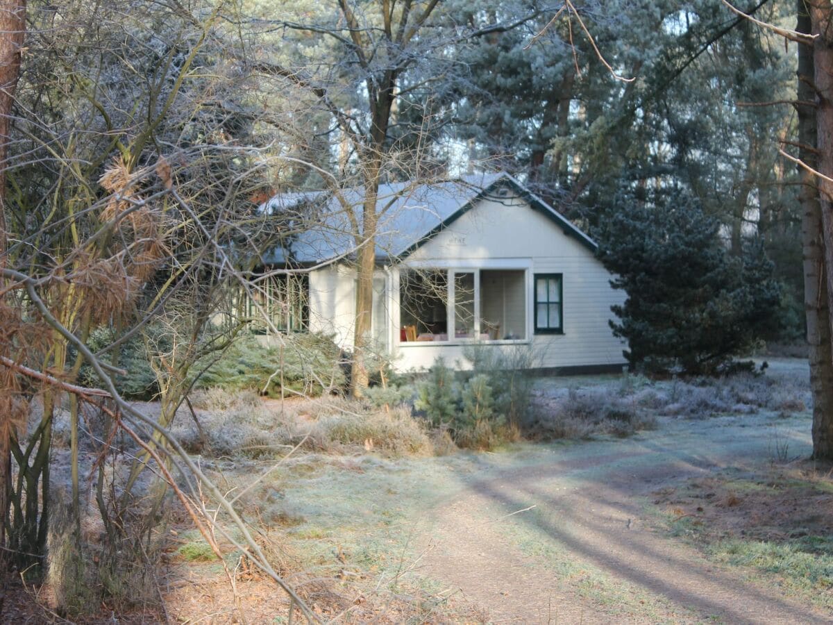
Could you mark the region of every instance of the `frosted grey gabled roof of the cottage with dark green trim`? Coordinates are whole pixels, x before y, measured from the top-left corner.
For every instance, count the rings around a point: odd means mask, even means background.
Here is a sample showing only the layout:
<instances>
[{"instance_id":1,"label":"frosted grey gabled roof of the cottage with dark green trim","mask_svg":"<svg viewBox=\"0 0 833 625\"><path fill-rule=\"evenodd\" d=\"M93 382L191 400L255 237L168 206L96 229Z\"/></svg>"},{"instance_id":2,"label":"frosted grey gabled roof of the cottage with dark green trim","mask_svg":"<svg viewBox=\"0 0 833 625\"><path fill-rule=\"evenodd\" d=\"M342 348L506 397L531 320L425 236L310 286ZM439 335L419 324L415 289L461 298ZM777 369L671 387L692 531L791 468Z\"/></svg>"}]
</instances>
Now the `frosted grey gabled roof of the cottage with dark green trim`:
<instances>
[{"instance_id":1,"label":"frosted grey gabled roof of the cottage with dark green trim","mask_svg":"<svg viewBox=\"0 0 833 625\"><path fill-rule=\"evenodd\" d=\"M551 219L567 236L596 251L596 243L590 237L515 178L507 173L488 173L417 186L412 183L380 186L377 207L383 213L377 227L377 258L393 261L406 257L454 223L478 200L505 200L506 195L500 194L505 188ZM342 197L361 222L363 190L347 189L342 191ZM348 214L330 193L282 193L270 199L264 208L270 213L303 212L309 223L316 223L315 228L306 228L283 248L263 254L264 264L326 263L351 256L356 247Z\"/></svg>"}]
</instances>

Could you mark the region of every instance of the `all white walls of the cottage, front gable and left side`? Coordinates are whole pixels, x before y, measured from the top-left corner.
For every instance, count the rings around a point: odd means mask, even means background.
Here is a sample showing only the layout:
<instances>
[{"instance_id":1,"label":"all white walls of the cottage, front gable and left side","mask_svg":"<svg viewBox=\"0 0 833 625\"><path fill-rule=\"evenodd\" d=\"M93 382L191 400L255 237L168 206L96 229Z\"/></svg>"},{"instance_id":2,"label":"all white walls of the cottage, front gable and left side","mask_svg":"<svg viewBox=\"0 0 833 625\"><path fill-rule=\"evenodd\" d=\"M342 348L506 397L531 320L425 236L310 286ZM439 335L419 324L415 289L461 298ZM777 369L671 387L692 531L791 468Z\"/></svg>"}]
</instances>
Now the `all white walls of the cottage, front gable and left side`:
<instances>
[{"instance_id":1,"label":"all white walls of the cottage, front gable and left side","mask_svg":"<svg viewBox=\"0 0 833 625\"><path fill-rule=\"evenodd\" d=\"M624 293L610 286L610 274L594 254L520 198L483 200L443 232L408 256L403 265L414 268L471 270L513 269L524 278L504 274L500 303L481 304L481 318L489 307L511 306L511 293L526 297L526 340L490 344L488 348L510 353L529 349L533 366L541 368L622 365L625 345L611 333L611 305L622 303ZM399 371L431 367L437 357L449 365L466 368L465 344L402 343L399 327L398 268L380 269L374 277L373 336L380 348L389 349ZM563 276L563 334L534 334L532 286L536 273ZM495 277L500 274L493 274ZM322 268L310 274L310 329L333 334L343 348L351 349L355 328L355 271L344 265ZM516 300L515 300L516 301ZM505 309L506 318L522 316ZM520 324L519 324L520 325ZM510 329L501 328L501 334Z\"/></svg>"}]
</instances>

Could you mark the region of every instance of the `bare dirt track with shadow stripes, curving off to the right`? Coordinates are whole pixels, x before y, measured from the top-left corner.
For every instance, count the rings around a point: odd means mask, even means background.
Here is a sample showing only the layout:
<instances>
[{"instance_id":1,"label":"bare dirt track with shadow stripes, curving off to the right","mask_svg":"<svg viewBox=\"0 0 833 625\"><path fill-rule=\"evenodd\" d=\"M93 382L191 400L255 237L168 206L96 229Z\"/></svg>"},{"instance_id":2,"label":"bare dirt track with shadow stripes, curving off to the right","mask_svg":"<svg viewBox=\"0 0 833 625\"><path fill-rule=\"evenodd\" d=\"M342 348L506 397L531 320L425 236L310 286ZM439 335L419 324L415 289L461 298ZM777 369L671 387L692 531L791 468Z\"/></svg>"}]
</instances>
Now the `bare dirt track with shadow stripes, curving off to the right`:
<instances>
[{"instance_id":1,"label":"bare dirt track with shadow stripes, curving off to the right","mask_svg":"<svg viewBox=\"0 0 833 625\"><path fill-rule=\"evenodd\" d=\"M801 430L779 427L802 453ZM494 622L833 622L652 529L651 493L760 466L772 437L749 418L670 421L658 433L471 476L436 509L423 572Z\"/></svg>"}]
</instances>

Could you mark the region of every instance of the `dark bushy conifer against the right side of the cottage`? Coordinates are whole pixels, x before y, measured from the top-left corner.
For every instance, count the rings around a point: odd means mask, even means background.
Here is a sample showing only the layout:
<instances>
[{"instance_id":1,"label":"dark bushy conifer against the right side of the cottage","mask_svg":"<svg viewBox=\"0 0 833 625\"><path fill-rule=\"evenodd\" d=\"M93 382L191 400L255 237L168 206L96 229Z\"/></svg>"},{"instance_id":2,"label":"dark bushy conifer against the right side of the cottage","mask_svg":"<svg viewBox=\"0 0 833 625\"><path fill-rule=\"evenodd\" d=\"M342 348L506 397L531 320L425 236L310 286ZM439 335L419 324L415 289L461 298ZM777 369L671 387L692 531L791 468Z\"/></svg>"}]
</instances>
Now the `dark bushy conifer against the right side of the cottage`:
<instances>
[{"instance_id":1,"label":"dark bushy conifer against the right side of the cottage","mask_svg":"<svg viewBox=\"0 0 833 625\"><path fill-rule=\"evenodd\" d=\"M621 198L606 218L600 258L627 293L611 328L628 341L632 367L715 374L776 331L781 288L761 243L733 256L719 228L681 195Z\"/></svg>"}]
</instances>

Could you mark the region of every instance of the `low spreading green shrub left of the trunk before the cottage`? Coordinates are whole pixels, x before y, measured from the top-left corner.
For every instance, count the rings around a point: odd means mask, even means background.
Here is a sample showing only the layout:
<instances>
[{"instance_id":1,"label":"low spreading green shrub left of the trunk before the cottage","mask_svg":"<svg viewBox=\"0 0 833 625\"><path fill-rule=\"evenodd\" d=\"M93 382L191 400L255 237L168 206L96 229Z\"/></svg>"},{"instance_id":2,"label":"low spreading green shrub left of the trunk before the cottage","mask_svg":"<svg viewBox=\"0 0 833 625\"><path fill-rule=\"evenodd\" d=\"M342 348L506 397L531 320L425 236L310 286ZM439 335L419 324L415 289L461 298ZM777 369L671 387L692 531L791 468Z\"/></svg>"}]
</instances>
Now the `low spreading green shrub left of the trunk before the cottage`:
<instances>
[{"instance_id":1,"label":"low spreading green shrub left of the trunk before the cottage","mask_svg":"<svg viewBox=\"0 0 833 625\"><path fill-rule=\"evenodd\" d=\"M287 334L283 343L280 348L266 345L254 335L239 338L216 362L204 363L207 370L198 379L197 388L251 389L271 396L280 395L281 383L287 391L307 395L342 388L345 377L340 351L332 338Z\"/></svg>"}]
</instances>

